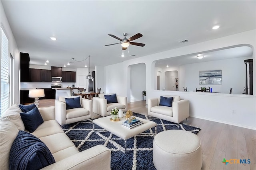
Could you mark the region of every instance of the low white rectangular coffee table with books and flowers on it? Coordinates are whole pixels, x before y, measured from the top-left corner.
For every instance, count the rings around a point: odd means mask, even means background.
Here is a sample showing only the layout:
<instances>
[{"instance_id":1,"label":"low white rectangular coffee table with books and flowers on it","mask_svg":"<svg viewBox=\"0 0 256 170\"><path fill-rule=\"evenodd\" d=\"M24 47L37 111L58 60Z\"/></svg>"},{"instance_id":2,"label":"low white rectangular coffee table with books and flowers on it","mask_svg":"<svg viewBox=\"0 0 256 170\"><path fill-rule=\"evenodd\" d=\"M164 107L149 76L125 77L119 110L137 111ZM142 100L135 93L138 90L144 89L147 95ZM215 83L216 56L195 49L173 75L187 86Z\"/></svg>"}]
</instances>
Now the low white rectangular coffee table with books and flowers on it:
<instances>
[{"instance_id":1,"label":"low white rectangular coffee table with books and flowers on it","mask_svg":"<svg viewBox=\"0 0 256 170\"><path fill-rule=\"evenodd\" d=\"M101 117L98 119L94 119L92 121L92 129L94 131L94 124L102 127L103 129L109 131L110 133L113 133L114 135L120 137L124 140L124 153L126 153L126 141L127 139L130 139L131 137L134 137L152 127L155 127L155 134L156 135L156 122L142 119L140 117L136 117L136 119L139 119L140 121L143 121L142 125L139 125L137 127L134 127L132 129L128 129L126 127L121 126L122 122L125 121L125 115L123 118L119 118L120 121L111 121L111 116Z\"/></svg>"}]
</instances>

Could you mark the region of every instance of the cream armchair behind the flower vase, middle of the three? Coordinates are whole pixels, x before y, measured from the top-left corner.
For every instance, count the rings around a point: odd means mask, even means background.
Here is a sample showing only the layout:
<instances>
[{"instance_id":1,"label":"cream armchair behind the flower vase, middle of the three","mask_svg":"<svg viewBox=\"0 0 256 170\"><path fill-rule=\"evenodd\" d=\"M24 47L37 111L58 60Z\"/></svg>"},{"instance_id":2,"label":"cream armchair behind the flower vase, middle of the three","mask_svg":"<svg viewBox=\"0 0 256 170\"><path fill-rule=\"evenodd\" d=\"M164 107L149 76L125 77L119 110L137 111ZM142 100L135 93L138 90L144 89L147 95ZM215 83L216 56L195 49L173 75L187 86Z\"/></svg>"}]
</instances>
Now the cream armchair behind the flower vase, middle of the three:
<instances>
[{"instance_id":1,"label":"cream armchair behind the flower vase, middle of the three","mask_svg":"<svg viewBox=\"0 0 256 170\"><path fill-rule=\"evenodd\" d=\"M99 97L92 98L92 111L102 117L110 115L112 109L117 107L122 111L127 111L127 97L116 96L118 103L107 104L107 100L104 97L105 94L99 94Z\"/></svg>"}]
</instances>

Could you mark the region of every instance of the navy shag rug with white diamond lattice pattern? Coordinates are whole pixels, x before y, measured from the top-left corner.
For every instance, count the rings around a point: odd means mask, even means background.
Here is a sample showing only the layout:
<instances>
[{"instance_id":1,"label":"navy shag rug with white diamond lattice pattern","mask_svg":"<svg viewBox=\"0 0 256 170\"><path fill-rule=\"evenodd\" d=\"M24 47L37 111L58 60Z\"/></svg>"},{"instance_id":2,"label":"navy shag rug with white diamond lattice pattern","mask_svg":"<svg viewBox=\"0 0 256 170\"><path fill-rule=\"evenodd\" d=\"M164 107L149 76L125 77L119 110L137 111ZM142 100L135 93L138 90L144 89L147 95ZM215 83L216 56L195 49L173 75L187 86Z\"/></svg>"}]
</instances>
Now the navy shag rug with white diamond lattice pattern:
<instances>
[{"instance_id":1,"label":"navy shag rug with white diamond lattice pattern","mask_svg":"<svg viewBox=\"0 0 256 170\"><path fill-rule=\"evenodd\" d=\"M148 119L146 115L133 113L134 116ZM157 133L161 131L180 129L197 134L201 129L185 124L150 117L151 121L157 123ZM116 135L95 125L95 132L92 131L92 119L62 125L62 129L71 139L77 149L81 152L96 145L104 145L111 150L111 169L112 170L156 170L153 164L153 139L154 128L144 131L127 140L127 150L124 154L124 140ZM99 162L100 163L100 162Z\"/></svg>"}]
</instances>

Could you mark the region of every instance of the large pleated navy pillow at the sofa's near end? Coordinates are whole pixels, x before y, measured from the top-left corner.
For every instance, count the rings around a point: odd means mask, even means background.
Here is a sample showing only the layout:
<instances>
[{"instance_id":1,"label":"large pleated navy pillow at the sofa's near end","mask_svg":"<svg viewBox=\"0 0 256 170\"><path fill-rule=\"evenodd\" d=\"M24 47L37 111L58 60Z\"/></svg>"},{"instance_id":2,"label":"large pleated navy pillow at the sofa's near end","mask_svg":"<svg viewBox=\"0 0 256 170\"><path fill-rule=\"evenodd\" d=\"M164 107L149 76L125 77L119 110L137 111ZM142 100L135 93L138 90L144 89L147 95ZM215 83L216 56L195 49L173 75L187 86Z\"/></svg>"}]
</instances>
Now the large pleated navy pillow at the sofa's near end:
<instances>
[{"instance_id":1,"label":"large pleated navy pillow at the sofa's near end","mask_svg":"<svg viewBox=\"0 0 256 170\"><path fill-rule=\"evenodd\" d=\"M34 135L19 131L10 150L10 170L39 170L55 163L46 145Z\"/></svg>"}]
</instances>

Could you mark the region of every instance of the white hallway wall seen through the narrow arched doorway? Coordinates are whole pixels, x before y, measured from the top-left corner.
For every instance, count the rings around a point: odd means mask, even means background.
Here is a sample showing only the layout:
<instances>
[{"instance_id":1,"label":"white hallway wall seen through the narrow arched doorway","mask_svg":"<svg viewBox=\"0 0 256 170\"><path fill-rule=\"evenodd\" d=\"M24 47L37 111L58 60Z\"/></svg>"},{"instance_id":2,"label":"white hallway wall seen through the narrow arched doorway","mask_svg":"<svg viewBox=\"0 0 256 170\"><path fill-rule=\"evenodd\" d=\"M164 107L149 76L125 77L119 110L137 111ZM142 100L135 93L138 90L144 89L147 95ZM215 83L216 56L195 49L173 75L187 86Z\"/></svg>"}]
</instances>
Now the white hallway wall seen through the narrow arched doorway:
<instances>
[{"instance_id":1,"label":"white hallway wall seen through the narrow arched doorway","mask_svg":"<svg viewBox=\"0 0 256 170\"><path fill-rule=\"evenodd\" d=\"M146 90L146 65L144 63L130 66L130 101L143 100L142 91Z\"/></svg>"}]
</instances>

